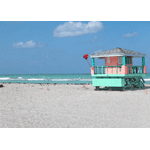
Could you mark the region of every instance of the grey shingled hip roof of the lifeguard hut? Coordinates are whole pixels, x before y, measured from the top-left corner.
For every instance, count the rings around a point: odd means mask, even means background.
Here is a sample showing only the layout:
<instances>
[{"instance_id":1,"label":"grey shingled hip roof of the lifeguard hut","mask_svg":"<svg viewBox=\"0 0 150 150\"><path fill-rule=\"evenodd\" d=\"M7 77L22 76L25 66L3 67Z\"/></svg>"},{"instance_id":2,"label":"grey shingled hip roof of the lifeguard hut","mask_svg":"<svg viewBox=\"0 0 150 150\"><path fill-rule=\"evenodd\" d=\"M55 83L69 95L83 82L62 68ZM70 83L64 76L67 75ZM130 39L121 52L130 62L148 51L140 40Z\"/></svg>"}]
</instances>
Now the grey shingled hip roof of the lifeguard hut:
<instances>
[{"instance_id":1,"label":"grey shingled hip roof of the lifeguard hut","mask_svg":"<svg viewBox=\"0 0 150 150\"><path fill-rule=\"evenodd\" d=\"M122 48L115 48L115 49L112 49L109 51L94 53L93 55L90 55L91 58L112 57L112 56L146 57L145 54L126 50L126 49L122 49Z\"/></svg>"}]
</instances>

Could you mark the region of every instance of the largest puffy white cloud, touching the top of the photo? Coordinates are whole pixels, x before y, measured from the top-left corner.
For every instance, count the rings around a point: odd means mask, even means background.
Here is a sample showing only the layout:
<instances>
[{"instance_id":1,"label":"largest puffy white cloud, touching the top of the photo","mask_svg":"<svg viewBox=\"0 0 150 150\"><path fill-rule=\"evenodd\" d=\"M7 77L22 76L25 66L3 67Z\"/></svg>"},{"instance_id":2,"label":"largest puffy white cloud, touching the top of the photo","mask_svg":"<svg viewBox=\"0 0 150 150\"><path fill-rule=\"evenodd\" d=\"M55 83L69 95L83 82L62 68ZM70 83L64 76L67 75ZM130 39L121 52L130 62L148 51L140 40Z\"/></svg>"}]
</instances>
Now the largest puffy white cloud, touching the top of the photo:
<instances>
[{"instance_id":1,"label":"largest puffy white cloud, touching the top of the photo","mask_svg":"<svg viewBox=\"0 0 150 150\"><path fill-rule=\"evenodd\" d=\"M100 21L90 21L87 24L82 22L69 21L59 25L53 32L54 37L73 37L87 33L96 33L103 29Z\"/></svg>"}]
</instances>

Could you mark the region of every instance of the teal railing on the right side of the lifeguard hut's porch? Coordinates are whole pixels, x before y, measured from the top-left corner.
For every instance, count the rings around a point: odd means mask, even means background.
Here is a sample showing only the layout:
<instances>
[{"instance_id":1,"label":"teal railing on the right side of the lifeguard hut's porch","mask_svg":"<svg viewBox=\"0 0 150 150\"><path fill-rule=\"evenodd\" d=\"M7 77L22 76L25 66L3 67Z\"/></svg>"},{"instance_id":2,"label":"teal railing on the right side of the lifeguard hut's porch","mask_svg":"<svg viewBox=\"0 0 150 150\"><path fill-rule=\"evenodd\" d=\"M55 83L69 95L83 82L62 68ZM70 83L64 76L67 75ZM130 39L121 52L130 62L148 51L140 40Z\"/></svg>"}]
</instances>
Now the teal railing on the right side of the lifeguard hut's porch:
<instances>
[{"instance_id":1,"label":"teal railing on the right side of the lifeguard hut's porch","mask_svg":"<svg viewBox=\"0 0 150 150\"><path fill-rule=\"evenodd\" d=\"M128 74L143 74L144 66L127 66Z\"/></svg>"}]
</instances>

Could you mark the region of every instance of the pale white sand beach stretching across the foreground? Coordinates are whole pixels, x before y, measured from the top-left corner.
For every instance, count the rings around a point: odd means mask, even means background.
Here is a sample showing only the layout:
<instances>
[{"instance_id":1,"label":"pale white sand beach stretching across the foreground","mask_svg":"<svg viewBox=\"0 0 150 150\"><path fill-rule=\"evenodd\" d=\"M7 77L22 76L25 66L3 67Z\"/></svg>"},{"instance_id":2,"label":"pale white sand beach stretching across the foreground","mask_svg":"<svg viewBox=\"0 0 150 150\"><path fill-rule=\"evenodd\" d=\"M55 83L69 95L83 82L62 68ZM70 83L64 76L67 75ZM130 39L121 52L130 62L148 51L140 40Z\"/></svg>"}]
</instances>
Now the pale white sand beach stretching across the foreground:
<instances>
[{"instance_id":1,"label":"pale white sand beach stretching across the foreground","mask_svg":"<svg viewBox=\"0 0 150 150\"><path fill-rule=\"evenodd\" d=\"M122 92L95 91L92 85L4 84L0 127L149 128L150 85Z\"/></svg>"}]
</instances>

